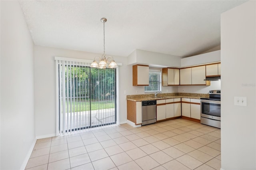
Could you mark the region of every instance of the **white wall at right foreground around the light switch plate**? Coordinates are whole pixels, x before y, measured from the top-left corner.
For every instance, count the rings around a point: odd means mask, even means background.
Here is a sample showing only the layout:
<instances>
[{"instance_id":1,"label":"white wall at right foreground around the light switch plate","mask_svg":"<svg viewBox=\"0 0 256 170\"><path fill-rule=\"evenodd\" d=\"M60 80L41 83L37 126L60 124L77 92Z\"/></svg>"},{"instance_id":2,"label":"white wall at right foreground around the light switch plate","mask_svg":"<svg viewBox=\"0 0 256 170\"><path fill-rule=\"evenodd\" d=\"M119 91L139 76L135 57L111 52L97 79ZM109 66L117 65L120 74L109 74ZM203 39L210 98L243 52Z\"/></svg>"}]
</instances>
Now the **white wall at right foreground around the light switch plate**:
<instances>
[{"instance_id":1,"label":"white wall at right foreground around the light switch plate","mask_svg":"<svg viewBox=\"0 0 256 170\"><path fill-rule=\"evenodd\" d=\"M256 1L221 15L221 167L256 169ZM234 106L247 97L247 107Z\"/></svg>"}]
</instances>

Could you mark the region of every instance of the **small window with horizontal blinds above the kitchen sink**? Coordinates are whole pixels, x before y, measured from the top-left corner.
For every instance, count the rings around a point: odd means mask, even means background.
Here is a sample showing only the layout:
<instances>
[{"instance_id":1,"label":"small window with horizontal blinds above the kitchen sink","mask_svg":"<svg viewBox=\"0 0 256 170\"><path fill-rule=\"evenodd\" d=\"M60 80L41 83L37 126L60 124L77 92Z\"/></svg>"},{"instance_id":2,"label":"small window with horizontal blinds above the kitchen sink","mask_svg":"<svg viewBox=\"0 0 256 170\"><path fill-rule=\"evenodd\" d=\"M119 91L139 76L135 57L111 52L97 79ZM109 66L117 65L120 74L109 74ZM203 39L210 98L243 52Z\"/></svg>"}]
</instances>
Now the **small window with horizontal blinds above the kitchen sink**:
<instances>
[{"instance_id":1,"label":"small window with horizontal blinds above the kitchen sink","mask_svg":"<svg viewBox=\"0 0 256 170\"><path fill-rule=\"evenodd\" d=\"M162 72L160 70L149 70L149 85L144 87L145 92L162 90Z\"/></svg>"}]
</instances>

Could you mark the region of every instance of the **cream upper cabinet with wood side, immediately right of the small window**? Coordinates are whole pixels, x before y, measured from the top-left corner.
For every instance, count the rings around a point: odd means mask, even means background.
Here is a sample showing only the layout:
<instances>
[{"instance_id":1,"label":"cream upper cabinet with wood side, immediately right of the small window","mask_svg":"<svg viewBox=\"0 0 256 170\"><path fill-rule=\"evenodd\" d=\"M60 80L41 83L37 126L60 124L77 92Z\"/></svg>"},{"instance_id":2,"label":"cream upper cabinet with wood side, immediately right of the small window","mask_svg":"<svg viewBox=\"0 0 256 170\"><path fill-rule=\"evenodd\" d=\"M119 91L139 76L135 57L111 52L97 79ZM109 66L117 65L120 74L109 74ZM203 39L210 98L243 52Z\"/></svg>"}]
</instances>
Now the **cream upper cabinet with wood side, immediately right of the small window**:
<instances>
[{"instance_id":1,"label":"cream upper cabinet with wood side, immediately right of the small window","mask_svg":"<svg viewBox=\"0 0 256 170\"><path fill-rule=\"evenodd\" d=\"M162 86L167 85L180 85L180 69L162 69Z\"/></svg>"}]
</instances>

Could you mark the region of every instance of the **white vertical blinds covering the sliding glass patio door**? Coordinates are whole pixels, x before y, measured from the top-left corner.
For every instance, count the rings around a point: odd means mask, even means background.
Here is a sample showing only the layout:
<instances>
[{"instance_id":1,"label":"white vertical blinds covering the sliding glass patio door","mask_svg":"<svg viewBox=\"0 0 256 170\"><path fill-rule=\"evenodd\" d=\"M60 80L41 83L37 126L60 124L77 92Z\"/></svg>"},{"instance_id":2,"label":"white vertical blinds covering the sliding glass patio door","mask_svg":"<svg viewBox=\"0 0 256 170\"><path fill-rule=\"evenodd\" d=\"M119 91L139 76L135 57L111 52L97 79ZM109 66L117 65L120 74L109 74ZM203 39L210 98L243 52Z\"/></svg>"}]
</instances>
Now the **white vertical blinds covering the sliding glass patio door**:
<instances>
[{"instance_id":1,"label":"white vertical blinds covering the sliding glass patio door","mask_svg":"<svg viewBox=\"0 0 256 170\"><path fill-rule=\"evenodd\" d=\"M89 65L56 59L59 134L116 123L115 69Z\"/></svg>"}]
</instances>

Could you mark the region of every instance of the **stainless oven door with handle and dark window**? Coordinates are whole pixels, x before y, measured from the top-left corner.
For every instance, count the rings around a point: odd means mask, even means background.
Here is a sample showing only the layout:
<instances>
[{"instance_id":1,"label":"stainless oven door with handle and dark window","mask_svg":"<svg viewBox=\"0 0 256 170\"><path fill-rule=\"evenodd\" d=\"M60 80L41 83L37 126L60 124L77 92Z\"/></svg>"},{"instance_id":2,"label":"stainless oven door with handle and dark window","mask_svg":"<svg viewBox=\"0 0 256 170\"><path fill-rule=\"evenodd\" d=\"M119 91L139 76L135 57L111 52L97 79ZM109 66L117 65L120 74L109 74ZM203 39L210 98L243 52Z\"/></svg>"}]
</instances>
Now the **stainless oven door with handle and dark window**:
<instances>
[{"instance_id":1,"label":"stainless oven door with handle and dark window","mask_svg":"<svg viewBox=\"0 0 256 170\"><path fill-rule=\"evenodd\" d=\"M220 101L201 100L201 117L220 121Z\"/></svg>"}]
</instances>

